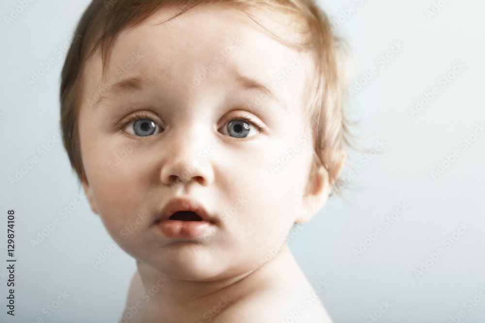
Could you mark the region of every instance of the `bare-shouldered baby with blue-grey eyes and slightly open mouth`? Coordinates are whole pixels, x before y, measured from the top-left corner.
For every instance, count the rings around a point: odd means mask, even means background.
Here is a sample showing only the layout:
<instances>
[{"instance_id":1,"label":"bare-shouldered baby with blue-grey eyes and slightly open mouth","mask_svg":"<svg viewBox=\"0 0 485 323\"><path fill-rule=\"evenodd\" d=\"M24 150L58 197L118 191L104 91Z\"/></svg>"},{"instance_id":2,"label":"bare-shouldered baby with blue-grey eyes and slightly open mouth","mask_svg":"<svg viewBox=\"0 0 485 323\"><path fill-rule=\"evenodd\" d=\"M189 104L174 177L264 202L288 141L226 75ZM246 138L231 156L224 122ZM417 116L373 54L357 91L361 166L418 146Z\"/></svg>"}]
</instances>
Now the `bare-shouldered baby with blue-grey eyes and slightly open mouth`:
<instances>
[{"instance_id":1,"label":"bare-shouldered baby with blue-grey eyes and slightly open mouth","mask_svg":"<svg viewBox=\"0 0 485 323\"><path fill-rule=\"evenodd\" d=\"M285 243L346 156L321 9L93 0L76 34L61 127L93 212L136 260L120 322L332 322Z\"/></svg>"}]
</instances>

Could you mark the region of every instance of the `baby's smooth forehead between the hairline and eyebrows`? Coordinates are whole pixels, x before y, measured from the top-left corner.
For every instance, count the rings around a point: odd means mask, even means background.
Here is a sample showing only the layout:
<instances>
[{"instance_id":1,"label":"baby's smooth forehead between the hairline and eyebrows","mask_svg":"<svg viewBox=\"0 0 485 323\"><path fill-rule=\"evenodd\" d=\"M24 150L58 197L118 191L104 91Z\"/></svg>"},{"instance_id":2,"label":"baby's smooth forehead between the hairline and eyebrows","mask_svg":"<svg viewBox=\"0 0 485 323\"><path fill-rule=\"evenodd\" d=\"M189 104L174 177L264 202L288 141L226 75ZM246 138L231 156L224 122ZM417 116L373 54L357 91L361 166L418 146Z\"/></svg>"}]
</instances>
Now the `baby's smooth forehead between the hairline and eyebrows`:
<instances>
[{"instance_id":1,"label":"baby's smooth forehead between the hairline and eyebrows","mask_svg":"<svg viewBox=\"0 0 485 323\"><path fill-rule=\"evenodd\" d=\"M256 12L261 27L246 13L224 4L201 4L173 18L178 11L163 7L136 27L121 31L102 81L101 59L92 57L83 73L86 99L94 96L96 101L96 93L109 88L106 84L128 77L143 76L150 85L163 82L197 96L243 76L264 85L287 105L301 103L301 95L294 93L307 90L311 57L271 35L301 42L301 35L288 27L294 16L261 10ZM252 84L246 82L246 87ZM129 87L128 83L125 88Z\"/></svg>"}]
</instances>

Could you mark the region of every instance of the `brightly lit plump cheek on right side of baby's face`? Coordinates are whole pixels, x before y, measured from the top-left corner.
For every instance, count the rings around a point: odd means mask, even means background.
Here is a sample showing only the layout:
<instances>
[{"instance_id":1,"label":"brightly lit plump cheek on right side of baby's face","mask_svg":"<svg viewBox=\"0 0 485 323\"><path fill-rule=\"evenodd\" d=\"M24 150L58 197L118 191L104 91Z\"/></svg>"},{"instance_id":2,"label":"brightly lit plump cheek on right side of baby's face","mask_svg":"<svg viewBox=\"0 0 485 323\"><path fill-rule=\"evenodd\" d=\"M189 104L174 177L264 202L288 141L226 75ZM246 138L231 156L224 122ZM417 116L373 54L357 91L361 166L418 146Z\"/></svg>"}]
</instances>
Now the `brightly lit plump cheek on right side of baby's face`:
<instances>
[{"instance_id":1,"label":"brightly lit plump cheek on right side of baby's face","mask_svg":"<svg viewBox=\"0 0 485 323\"><path fill-rule=\"evenodd\" d=\"M225 178L221 197L234 203L242 197L247 201L228 221L228 227L245 228L246 239L250 235L259 242L274 241L291 227L297 215L306 184L309 152L303 143L292 150L299 138L292 137L266 142L261 149L243 154L247 155L245 158L235 158L236 153L221 156L221 160L230 161L221 169L221 177ZM226 208L233 206L228 204Z\"/></svg>"}]
</instances>

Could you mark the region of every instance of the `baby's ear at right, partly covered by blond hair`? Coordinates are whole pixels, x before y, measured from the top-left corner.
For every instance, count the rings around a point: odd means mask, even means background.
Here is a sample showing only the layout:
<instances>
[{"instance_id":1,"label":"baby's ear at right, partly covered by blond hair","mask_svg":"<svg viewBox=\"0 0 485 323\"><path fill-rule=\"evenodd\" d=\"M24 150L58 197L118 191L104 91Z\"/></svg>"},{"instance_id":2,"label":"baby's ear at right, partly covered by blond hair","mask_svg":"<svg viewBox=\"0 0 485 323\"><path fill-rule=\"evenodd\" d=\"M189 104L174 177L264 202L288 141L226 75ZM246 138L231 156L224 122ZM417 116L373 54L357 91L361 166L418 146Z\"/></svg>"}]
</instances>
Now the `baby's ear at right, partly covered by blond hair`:
<instances>
[{"instance_id":1,"label":"baby's ear at right, partly covered by blond hair","mask_svg":"<svg viewBox=\"0 0 485 323\"><path fill-rule=\"evenodd\" d=\"M345 163L347 153L341 149L338 154L338 165L336 167L336 177L339 177ZM308 178L310 181L309 190L304 194L302 199L302 208L300 214L295 220L295 223L307 223L313 215L323 208L328 196L332 190L333 183L329 182L327 171L321 166L319 169L310 174ZM312 187L313 186L313 187Z\"/></svg>"}]
</instances>

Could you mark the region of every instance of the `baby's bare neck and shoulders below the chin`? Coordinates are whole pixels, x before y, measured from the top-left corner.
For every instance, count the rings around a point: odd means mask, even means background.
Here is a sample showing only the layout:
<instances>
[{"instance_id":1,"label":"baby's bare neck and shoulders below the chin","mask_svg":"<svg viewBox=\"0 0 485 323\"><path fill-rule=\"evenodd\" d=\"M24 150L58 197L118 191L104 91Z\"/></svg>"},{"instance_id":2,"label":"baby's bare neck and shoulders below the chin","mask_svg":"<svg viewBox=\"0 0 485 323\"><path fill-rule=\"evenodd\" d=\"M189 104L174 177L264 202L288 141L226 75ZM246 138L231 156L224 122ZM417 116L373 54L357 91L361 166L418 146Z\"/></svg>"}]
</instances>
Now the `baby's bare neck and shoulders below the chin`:
<instances>
[{"instance_id":1,"label":"baby's bare neck and shoulders below the chin","mask_svg":"<svg viewBox=\"0 0 485 323\"><path fill-rule=\"evenodd\" d=\"M143 264L137 264L143 268ZM274 259L259 270L241 277L227 287L198 299L185 300L187 303L184 308L174 309L172 302L167 301L167 295L173 295L173 291L169 291L170 280L162 287L163 291L159 290L148 299L146 290L156 286L157 280L160 279L144 282L138 271L134 274L124 315L127 317L129 308L131 312L135 311L136 302L139 302L140 309L128 322L280 323L281 320L285 322L295 316L296 319L291 322L332 322L322 303L313 294L313 288L292 257L288 246L282 247ZM322 285L321 288L324 292L328 286ZM205 308L205 311L202 312L201 308Z\"/></svg>"}]
</instances>

